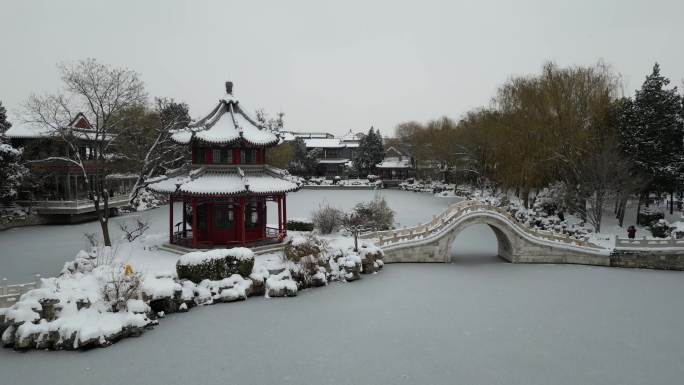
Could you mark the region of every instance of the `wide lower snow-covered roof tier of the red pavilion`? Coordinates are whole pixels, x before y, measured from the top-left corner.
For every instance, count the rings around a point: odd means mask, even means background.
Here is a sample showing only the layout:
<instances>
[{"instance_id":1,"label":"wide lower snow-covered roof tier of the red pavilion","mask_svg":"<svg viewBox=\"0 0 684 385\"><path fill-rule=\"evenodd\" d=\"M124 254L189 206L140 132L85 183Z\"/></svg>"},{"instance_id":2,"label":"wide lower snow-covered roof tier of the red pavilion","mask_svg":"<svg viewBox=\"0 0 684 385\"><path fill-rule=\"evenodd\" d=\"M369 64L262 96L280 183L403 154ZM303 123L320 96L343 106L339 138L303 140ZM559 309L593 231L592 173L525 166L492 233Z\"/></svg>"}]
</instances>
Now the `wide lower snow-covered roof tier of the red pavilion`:
<instances>
[{"instance_id":1,"label":"wide lower snow-covered roof tier of the red pavilion","mask_svg":"<svg viewBox=\"0 0 684 385\"><path fill-rule=\"evenodd\" d=\"M282 178L277 169L247 172L241 168L229 170L200 169L148 185L160 193L189 195L280 194L296 191L300 185Z\"/></svg>"}]
</instances>

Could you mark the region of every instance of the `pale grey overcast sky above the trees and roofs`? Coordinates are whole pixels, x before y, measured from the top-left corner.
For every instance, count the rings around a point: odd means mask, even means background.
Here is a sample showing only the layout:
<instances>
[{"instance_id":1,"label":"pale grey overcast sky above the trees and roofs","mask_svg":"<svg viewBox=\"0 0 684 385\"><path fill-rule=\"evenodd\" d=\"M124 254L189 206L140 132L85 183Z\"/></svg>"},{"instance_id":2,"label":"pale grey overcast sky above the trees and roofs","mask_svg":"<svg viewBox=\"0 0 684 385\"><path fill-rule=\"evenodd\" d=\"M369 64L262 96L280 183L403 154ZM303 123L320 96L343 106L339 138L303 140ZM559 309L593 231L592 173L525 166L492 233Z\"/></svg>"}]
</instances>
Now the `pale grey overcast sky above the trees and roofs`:
<instances>
[{"instance_id":1,"label":"pale grey overcast sky above the trees and roofs","mask_svg":"<svg viewBox=\"0 0 684 385\"><path fill-rule=\"evenodd\" d=\"M139 72L151 96L208 113L235 83L294 131L459 118L546 60L622 74L653 62L679 88L684 1L0 0L0 101L10 117L60 86L56 63L94 57Z\"/></svg>"}]
</instances>

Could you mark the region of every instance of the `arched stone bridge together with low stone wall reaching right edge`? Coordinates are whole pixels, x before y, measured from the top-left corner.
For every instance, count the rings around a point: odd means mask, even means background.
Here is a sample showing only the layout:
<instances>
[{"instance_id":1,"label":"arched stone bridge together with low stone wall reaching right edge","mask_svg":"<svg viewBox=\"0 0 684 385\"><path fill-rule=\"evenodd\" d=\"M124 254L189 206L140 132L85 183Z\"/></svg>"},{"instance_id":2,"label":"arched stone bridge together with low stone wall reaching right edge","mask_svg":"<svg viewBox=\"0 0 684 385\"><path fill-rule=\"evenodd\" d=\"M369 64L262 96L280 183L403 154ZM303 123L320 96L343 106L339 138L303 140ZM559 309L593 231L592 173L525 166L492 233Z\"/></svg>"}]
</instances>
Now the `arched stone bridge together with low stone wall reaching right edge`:
<instances>
[{"instance_id":1,"label":"arched stone bridge together with low stone wall reaching right edge","mask_svg":"<svg viewBox=\"0 0 684 385\"><path fill-rule=\"evenodd\" d=\"M380 246L386 262L450 262L456 236L474 224L492 229L499 256L509 262L684 269L684 239L616 238L603 247L586 239L529 228L508 211L478 201L454 203L428 223L360 237Z\"/></svg>"}]
</instances>

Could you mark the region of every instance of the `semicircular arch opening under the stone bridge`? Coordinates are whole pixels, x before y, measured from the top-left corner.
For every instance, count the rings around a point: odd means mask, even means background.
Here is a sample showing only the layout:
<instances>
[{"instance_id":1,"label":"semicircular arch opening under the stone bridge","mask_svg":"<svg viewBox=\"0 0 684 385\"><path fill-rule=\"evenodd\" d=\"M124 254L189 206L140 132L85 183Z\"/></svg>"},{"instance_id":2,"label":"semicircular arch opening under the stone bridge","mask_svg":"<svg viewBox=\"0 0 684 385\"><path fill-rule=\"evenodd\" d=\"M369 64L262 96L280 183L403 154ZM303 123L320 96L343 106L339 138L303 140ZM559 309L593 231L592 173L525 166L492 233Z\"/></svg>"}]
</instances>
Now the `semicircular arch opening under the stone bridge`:
<instances>
[{"instance_id":1,"label":"semicircular arch opening under the stone bridge","mask_svg":"<svg viewBox=\"0 0 684 385\"><path fill-rule=\"evenodd\" d=\"M455 229L450 246L450 262L482 264L510 261L511 240L497 225L469 223Z\"/></svg>"}]
</instances>

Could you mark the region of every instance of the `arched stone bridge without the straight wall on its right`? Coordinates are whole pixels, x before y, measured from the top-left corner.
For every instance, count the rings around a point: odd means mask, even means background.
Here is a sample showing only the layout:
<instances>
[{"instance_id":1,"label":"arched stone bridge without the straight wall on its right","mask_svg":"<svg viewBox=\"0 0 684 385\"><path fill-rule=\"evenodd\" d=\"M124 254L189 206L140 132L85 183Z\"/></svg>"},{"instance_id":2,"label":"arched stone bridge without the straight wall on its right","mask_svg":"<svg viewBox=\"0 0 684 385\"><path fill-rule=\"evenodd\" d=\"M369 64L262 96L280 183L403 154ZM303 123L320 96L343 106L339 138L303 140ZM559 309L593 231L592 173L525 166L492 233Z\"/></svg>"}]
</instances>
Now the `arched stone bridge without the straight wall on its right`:
<instances>
[{"instance_id":1,"label":"arched stone bridge without the straight wall on its right","mask_svg":"<svg viewBox=\"0 0 684 385\"><path fill-rule=\"evenodd\" d=\"M386 262L450 262L451 244L464 228L488 225L496 235L501 258L514 263L579 263L610 266L611 249L551 231L530 229L507 211L477 201L452 204L432 221L418 226L370 232Z\"/></svg>"}]
</instances>

